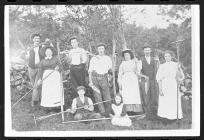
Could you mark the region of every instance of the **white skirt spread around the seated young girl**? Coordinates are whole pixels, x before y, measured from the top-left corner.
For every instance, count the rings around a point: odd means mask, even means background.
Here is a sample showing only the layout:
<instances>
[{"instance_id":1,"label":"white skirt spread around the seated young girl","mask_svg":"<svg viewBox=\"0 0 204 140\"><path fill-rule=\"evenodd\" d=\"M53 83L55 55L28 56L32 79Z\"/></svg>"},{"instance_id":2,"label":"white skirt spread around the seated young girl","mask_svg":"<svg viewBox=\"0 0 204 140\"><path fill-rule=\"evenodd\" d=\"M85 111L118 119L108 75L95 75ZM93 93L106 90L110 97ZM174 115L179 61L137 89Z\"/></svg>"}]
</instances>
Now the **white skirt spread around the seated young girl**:
<instances>
[{"instance_id":1,"label":"white skirt spread around the seated young girl","mask_svg":"<svg viewBox=\"0 0 204 140\"><path fill-rule=\"evenodd\" d=\"M113 117L111 120L112 125L117 126L131 126L132 121L131 119L126 115L124 117Z\"/></svg>"}]
</instances>

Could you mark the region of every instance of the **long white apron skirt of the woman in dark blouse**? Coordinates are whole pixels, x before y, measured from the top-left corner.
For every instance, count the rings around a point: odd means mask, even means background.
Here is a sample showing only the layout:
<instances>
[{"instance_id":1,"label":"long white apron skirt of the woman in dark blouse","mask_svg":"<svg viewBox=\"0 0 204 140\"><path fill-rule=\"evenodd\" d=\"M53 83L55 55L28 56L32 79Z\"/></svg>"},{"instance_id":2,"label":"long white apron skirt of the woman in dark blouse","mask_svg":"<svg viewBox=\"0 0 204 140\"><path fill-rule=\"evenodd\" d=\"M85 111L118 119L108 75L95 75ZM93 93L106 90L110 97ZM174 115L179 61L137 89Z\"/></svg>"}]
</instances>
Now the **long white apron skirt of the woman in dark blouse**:
<instances>
[{"instance_id":1,"label":"long white apron skirt of the woman in dark blouse","mask_svg":"<svg viewBox=\"0 0 204 140\"><path fill-rule=\"evenodd\" d=\"M46 77L52 71L53 70L45 70L43 73L43 78ZM41 106L57 107L61 105L61 100L62 104L64 105L60 82L60 73L58 71L54 71L43 81Z\"/></svg>"}]
</instances>

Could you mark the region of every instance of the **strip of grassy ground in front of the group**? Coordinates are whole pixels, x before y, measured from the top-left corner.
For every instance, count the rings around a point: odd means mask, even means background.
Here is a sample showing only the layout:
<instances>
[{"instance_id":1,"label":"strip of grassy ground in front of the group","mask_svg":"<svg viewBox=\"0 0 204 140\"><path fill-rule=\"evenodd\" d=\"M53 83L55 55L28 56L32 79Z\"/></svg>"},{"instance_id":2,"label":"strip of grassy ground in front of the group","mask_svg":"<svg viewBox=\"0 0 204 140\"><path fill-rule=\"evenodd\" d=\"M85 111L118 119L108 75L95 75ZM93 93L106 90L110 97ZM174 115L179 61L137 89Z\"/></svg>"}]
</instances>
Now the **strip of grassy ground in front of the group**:
<instances>
[{"instance_id":1,"label":"strip of grassy ground in front of the group","mask_svg":"<svg viewBox=\"0 0 204 140\"><path fill-rule=\"evenodd\" d=\"M20 95L17 97L12 91L12 103L17 101ZM21 95L22 96L22 95ZM131 127L118 127L111 125L110 120L93 121L89 124L85 123L61 123L61 115L53 116L44 120L37 121L35 125L35 117L46 115L42 109L39 109L33 113L29 113L31 109L30 105L31 94L26 96L15 108L12 110L12 128L16 131L38 131L38 130L148 130L148 129L190 129L192 125L191 120L191 101L182 98L182 108L184 118L179 123L171 122L167 120L161 121L159 118L153 118L151 120L144 118L137 120L132 118L133 125ZM66 100L66 98L65 98ZM65 114L65 119L70 120Z\"/></svg>"}]
</instances>

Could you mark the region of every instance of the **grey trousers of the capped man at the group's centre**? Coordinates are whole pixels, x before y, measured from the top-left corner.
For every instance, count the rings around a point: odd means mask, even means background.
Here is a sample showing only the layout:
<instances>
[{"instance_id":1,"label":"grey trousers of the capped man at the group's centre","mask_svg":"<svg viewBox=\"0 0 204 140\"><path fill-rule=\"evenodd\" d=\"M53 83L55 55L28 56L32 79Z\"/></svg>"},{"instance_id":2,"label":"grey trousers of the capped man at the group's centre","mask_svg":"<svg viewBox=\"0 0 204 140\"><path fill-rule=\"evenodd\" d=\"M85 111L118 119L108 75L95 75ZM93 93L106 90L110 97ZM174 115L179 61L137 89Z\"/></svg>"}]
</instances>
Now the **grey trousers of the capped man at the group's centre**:
<instances>
[{"instance_id":1,"label":"grey trousers of the capped man at the group's centre","mask_svg":"<svg viewBox=\"0 0 204 140\"><path fill-rule=\"evenodd\" d=\"M92 82L95 87L97 87L101 93L97 93L94 91L95 101L102 102L106 100L111 100L110 89L108 85L108 77L105 75L98 75L96 73L92 73ZM100 113L111 113L111 101L98 104L98 109Z\"/></svg>"}]
</instances>

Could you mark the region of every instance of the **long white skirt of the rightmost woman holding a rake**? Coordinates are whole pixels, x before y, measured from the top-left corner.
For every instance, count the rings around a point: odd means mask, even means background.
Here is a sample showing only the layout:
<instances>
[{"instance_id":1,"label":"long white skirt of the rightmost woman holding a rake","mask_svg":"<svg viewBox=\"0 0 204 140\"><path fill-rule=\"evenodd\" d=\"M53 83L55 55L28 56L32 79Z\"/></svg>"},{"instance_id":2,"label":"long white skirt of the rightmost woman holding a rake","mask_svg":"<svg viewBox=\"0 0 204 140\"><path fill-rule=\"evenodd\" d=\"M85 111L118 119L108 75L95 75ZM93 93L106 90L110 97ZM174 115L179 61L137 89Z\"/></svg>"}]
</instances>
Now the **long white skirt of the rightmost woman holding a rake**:
<instances>
[{"instance_id":1,"label":"long white skirt of the rightmost woman holding a rake","mask_svg":"<svg viewBox=\"0 0 204 140\"><path fill-rule=\"evenodd\" d=\"M164 96L159 96L158 116L167 119L177 119L177 82L175 78L162 80ZM181 94L178 96L178 118L183 118Z\"/></svg>"}]
</instances>

